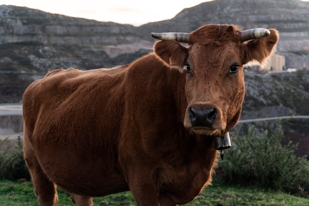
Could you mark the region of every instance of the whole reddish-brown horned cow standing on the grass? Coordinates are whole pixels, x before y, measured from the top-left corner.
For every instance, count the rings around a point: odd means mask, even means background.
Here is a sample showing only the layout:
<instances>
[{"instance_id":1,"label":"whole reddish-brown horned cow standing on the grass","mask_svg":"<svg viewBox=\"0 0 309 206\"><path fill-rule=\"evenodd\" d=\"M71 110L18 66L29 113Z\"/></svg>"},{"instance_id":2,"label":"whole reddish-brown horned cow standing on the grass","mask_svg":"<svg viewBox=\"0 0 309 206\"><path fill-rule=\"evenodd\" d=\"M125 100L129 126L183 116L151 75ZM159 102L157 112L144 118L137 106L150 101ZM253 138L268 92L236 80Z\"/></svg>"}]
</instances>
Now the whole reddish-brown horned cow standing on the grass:
<instances>
[{"instance_id":1,"label":"whole reddish-brown horned cow standing on the grass","mask_svg":"<svg viewBox=\"0 0 309 206\"><path fill-rule=\"evenodd\" d=\"M153 36L163 41L129 65L54 70L26 89L24 154L40 206L57 205L56 185L77 206L127 190L137 206L175 206L210 184L215 137L240 116L243 65L263 63L278 34L205 25Z\"/></svg>"}]
</instances>

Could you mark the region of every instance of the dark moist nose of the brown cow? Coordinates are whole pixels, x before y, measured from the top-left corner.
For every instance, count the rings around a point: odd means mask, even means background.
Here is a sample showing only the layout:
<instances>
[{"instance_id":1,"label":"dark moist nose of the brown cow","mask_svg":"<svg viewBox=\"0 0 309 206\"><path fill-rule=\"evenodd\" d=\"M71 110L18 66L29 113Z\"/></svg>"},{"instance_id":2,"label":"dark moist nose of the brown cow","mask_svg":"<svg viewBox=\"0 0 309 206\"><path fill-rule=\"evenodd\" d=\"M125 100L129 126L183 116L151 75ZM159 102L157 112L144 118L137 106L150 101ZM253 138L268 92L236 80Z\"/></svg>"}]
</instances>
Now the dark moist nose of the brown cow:
<instances>
[{"instance_id":1,"label":"dark moist nose of the brown cow","mask_svg":"<svg viewBox=\"0 0 309 206\"><path fill-rule=\"evenodd\" d=\"M193 107L189 108L189 118L193 127L205 126L212 127L217 116L216 108L209 109L196 109Z\"/></svg>"}]
</instances>

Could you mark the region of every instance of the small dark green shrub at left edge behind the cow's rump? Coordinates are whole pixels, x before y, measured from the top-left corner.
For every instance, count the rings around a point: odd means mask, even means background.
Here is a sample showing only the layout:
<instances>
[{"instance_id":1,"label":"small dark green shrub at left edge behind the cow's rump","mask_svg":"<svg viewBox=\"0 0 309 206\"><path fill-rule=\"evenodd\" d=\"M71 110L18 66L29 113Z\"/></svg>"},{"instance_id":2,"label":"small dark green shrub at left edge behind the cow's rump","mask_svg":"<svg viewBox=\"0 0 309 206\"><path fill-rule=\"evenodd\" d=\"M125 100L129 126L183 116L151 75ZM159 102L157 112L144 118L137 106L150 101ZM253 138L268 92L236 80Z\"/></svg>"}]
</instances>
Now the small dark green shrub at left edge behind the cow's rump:
<instances>
[{"instance_id":1,"label":"small dark green shrub at left edge behind the cow's rump","mask_svg":"<svg viewBox=\"0 0 309 206\"><path fill-rule=\"evenodd\" d=\"M8 138L0 140L0 146L7 143L0 151L0 178L1 179L28 179L30 174L24 160L23 143L20 137L16 142L8 142ZM15 143L15 144L14 144Z\"/></svg>"}]
</instances>

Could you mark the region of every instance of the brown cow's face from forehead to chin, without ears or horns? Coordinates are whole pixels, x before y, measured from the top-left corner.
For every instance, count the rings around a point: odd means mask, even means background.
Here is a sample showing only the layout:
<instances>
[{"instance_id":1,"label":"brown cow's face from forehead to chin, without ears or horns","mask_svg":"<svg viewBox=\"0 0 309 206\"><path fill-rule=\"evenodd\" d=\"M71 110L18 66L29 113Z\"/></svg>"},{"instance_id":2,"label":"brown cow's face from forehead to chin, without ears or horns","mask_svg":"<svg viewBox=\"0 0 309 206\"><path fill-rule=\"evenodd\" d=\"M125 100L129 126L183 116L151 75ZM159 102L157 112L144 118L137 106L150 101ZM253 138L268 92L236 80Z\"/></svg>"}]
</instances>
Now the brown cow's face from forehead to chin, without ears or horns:
<instances>
[{"instance_id":1,"label":"brown cow's face from forehead to chin, without ears or horns","mask_svg":"<svg viewBox=\"0 0 309 206\"><path fill-rule=\"evenodd\" d=\"M194 132L219 136L237 123L245 94L237 50L235 45L189 48L184 125Z\"/></svg>"}]
</instances>

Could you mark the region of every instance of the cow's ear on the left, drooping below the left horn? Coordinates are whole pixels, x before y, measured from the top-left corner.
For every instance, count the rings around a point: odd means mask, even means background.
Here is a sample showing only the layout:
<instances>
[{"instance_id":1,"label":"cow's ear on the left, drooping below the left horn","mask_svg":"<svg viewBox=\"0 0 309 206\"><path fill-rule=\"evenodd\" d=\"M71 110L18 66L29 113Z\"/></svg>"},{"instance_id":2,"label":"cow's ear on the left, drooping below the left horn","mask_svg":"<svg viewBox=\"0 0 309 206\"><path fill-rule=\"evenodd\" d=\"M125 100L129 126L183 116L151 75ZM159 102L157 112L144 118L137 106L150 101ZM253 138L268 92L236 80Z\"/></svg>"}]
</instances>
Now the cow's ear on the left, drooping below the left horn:
<instances>
[{"instance_id":1,"label":"cow's ear on the left, drooping below the left horn","mask_svg":"<svg viewBox=\"0 0 309 206\"><path fill-rule=\"evenodd\" d=\"M154 53L168 67L174 67L184 71L188 57L188 49L177 41L162 40L154 44Z\"/></svg>"}]
</instances>

